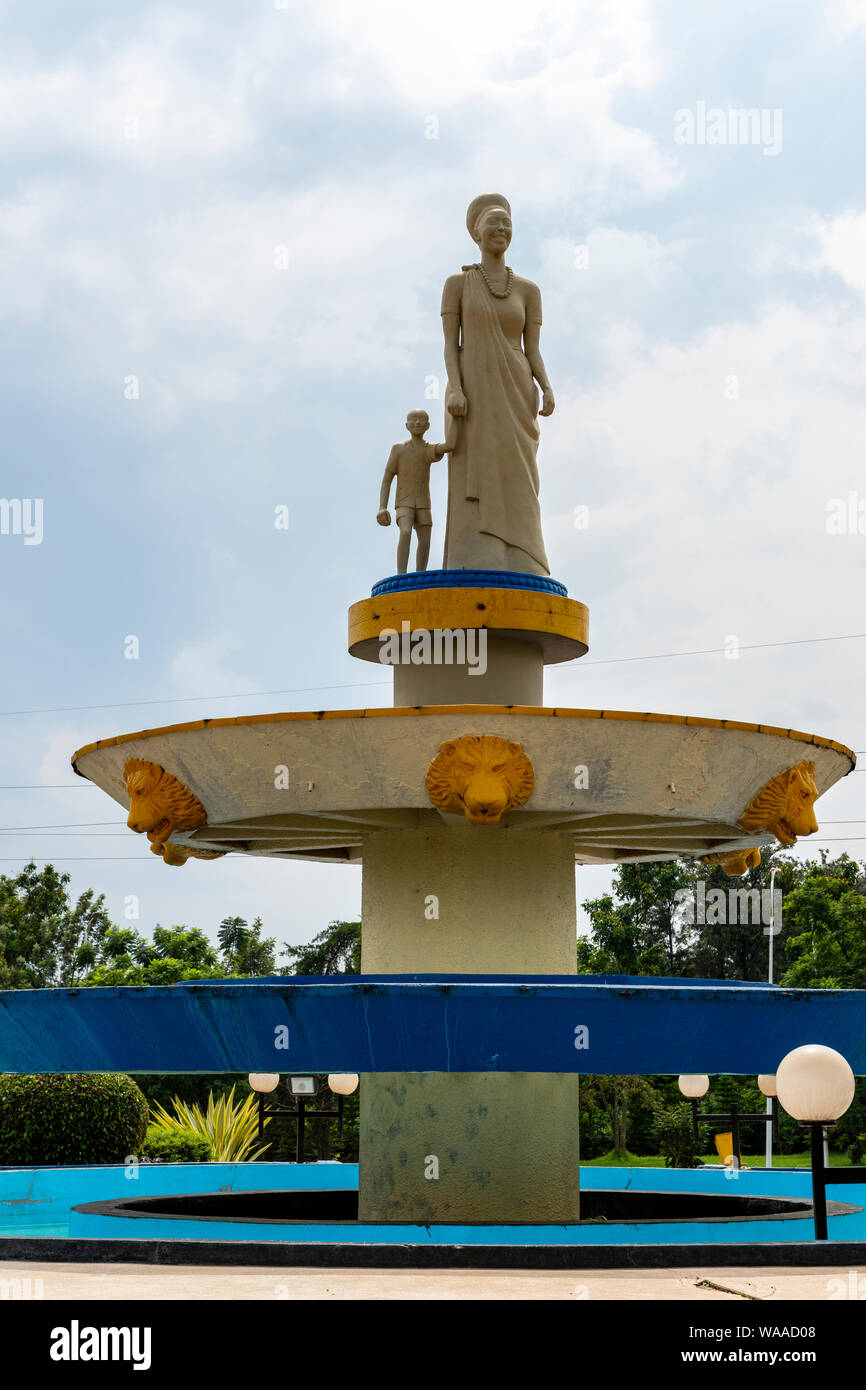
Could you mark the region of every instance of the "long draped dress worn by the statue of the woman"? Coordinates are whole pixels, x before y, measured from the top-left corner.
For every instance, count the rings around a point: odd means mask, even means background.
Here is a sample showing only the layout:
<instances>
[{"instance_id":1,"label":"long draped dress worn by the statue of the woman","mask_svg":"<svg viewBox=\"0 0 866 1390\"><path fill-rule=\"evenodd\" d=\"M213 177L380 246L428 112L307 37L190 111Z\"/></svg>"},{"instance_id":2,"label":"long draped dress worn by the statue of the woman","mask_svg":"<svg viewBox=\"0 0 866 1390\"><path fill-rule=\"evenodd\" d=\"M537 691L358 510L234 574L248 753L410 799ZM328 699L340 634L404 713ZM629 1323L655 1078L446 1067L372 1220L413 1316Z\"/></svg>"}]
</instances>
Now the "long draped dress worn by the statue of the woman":
<instances>
[{"instance_id":1,"label":"long draped dress worn by the statue of the woman","mask_svg":"<svg viewBox=\"0 0 866 1390\"><path fill-rule=\"evenodd\" d=\"M460 374L467 413L449 456L446 570L549 574L538 503L538 391L520 342L524 321L541 322L541 295L498 299L477 267L445 286L442 313L460 313ZM525 309L524 309L525 303ZM449 396L445 399L446 424Z\"/></svg>"}]
</instances>

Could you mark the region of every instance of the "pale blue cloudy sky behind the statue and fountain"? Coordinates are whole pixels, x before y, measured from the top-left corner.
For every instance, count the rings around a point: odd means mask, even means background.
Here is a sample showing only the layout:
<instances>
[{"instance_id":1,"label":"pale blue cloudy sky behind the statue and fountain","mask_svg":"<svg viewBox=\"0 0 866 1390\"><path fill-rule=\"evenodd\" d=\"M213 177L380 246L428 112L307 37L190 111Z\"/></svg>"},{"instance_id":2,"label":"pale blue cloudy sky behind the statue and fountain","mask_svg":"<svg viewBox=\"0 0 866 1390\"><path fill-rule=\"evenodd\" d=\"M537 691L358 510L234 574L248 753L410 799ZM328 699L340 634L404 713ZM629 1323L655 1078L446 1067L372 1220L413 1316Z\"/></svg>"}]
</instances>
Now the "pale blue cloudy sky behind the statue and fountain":
<instances>
[{"instance_id":1,"label":"pale blue cloudy sky behind the statue and fountain","mask_svg":"<svg viewBox=\"0 0 866 1390\"><path fill-rule=\"evenodd\" d=\"M357 917L350 866L164 866L70 755L391 702L346 610L395 569L406 411L442 436L441 289L488 190L542 289L552 574L591 610L546 703L866 749L865 0L1 14L0 493L43 499L43 539L0 535L0 872L50 858L145 933ZM765 108L781 147L678 143L701 103ZM803 853L866 855L866 776L817 815Z\"/></svg>"}]
</instances>

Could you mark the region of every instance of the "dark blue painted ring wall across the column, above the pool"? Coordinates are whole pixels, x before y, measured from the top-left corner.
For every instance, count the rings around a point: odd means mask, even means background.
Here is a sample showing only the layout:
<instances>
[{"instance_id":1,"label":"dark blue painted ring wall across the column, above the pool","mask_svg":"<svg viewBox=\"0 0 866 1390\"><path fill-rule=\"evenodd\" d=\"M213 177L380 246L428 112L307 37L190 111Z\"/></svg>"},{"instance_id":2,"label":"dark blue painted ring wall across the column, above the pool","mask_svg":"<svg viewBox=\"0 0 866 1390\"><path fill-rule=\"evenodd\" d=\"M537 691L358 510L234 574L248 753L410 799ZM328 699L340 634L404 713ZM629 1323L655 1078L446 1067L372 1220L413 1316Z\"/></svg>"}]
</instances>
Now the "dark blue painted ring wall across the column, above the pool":
<instances>
[{"instance_id":1,"label":"dark blue painted ring wall across the column, above the pool","mask_svg":"<svg viewBox=\"0 0 866 1390\"><path fill-rule=\"evenodd\" d=\"M866 991L322 976L0 992L4 1072L755 1074L803 1042L835 1048L865 1074Z\"/></svg>"}]
</instances>

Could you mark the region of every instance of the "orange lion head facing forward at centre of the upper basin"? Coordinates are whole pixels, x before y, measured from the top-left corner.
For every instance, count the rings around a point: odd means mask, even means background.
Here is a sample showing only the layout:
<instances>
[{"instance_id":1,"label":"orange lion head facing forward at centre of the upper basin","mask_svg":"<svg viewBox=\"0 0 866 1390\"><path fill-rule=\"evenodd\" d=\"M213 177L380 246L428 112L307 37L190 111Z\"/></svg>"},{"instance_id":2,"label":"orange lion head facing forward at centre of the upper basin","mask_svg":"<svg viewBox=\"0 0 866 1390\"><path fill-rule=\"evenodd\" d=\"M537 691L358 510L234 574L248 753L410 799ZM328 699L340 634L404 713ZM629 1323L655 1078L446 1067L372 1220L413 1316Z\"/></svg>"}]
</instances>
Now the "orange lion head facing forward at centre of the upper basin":
<instances>
[{"instance_id":1,"label":"orange lion head facing forward at centre of the upper basin","mask_svg":"<svg viewBox=\"0 0 866 1390\"><path fill-rule=\"evenodd\" d=\"M439 810L495 826L503 812L530 799L535 774L520 744L495 734L466 735L441 745L425 785Z\"/></svg>"}]
</instances>

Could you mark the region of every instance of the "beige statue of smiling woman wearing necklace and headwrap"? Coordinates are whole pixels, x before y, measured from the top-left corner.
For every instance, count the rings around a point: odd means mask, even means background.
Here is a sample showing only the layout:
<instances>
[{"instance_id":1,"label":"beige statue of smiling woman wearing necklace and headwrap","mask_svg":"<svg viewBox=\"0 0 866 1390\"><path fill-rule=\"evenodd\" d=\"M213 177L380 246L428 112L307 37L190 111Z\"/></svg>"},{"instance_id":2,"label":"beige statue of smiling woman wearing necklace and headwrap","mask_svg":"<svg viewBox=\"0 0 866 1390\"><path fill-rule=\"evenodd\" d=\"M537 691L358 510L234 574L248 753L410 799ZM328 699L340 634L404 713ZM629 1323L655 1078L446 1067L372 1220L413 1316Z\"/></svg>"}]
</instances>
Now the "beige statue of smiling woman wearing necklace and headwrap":
<instances>
[{"instance_id":1,"label":"beige statue of smiling woman wearing necklace and headwrap","mask_svg":"<svg viewBox=\"0 0 866 1390\"><path fill-rule=\"evenodd\" d=\"M538 348L541 291L505 264L512 208L482 193L466 214L481 264L442 291L448 466L446 570L550 573L538 505L541 414L553 392Z\"/></svg>"}]
</instances>

